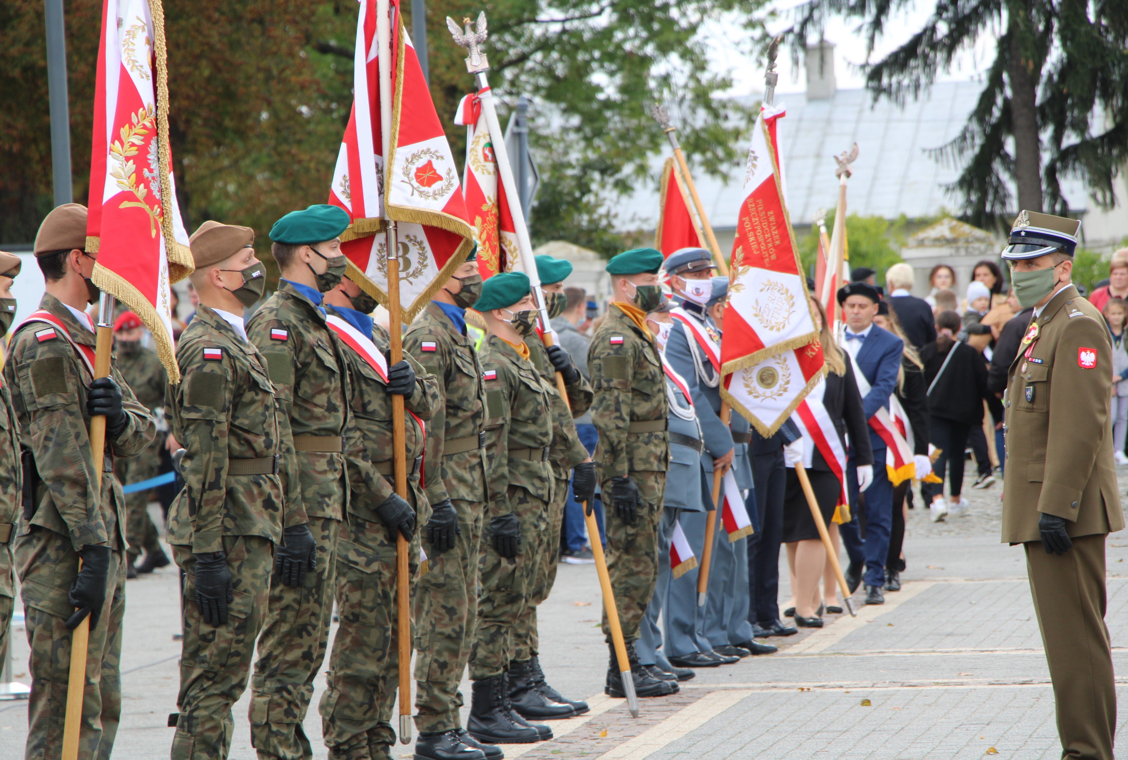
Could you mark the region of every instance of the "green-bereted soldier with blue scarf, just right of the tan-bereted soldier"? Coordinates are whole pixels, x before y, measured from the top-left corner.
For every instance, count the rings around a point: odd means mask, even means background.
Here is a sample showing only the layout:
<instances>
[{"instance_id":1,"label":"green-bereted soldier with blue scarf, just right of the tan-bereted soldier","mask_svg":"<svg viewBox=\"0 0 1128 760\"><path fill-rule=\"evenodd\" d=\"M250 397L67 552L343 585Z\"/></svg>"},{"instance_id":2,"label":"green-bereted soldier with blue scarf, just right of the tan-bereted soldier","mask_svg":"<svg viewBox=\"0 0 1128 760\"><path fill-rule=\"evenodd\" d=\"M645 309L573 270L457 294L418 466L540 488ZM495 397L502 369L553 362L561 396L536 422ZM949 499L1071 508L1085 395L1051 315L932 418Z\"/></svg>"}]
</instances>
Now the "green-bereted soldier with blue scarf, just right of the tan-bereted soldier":
<instances>
[{"instance_id":1,"label":"green-bereted soldier with blue scarf, just right of the tan-bereted soldier","mask_svg":"<svg viewBox=\"0 0 1128 760\"><path fill-rule=\"evenodd\" d=\"M275 222L272 254L282 280L247 324L290 417L301 502L317 542L317 567L300 589L271 584L250 686L250 742L262 760L312 758L302 721L328 644L337 534L349 493L343 441L351 424L349 377L337 337L325 324L321 293L344 274L340 235L347 226L349 214L329 205ZM285 532L284 538L289 542Z\"/></svg>"}]
</instances>

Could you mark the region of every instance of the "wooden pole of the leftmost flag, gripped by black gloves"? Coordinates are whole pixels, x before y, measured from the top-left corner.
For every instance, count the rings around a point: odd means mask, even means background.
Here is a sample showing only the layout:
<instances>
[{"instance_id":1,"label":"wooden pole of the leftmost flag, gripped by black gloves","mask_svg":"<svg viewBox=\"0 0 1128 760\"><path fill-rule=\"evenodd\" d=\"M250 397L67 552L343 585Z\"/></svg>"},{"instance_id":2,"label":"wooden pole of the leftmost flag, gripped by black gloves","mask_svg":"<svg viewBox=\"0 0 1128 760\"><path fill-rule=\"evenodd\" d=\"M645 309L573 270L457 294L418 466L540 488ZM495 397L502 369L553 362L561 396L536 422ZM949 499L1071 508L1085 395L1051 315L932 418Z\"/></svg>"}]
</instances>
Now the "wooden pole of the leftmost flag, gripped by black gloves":
<instances>
[{"instance_id":1,"label":"wooden pole of the leftmost flag, gripped by black gloves","mask_svg":"<svg viewBox=\"0 0 1128 760\"><path fill-rule=\"evenodd\" d=\"M114 297L98 298L98 330L94 354L94 379L109 377L109 357L114 346ZM90 460L94 462L94 487L102 494L103 459L106 451L106 417L90 417ZM79 569L82 560L79 559ZM92 610L91 610L92 612ZM67 713L63 722L62 760L78 760L79 730L82 725L82 697L86 691L86 660L90 645L90 616L71 633L70 677L67 681Z\"/></svg>"}]
</instances>

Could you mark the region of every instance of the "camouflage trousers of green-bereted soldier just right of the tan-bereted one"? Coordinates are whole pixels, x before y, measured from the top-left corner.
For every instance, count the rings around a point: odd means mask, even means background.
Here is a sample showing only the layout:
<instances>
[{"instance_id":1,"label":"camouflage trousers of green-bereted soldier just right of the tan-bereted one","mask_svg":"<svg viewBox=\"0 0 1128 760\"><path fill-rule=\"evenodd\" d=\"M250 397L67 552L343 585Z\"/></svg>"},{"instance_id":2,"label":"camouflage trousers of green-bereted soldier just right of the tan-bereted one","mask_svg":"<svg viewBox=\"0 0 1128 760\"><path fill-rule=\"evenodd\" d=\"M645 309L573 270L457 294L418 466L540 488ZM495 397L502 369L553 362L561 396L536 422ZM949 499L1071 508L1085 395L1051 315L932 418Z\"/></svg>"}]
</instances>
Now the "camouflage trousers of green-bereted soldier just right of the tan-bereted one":
<instances>
[{"instance_id":1,"label":"camouflage trousers of green-bereted soldier just right of the tan-bereted one","mask_svg":"<svg viewBox=\"0 0 1128 760\"><path fill-rule=\"evenodd\" d=\"M263 760L314 757L301 722L329 640L340 529L340 520L309 519L317 569L306 573L302 587L291 589L271 575L268 612L250 681L250 743Z\"/></svg>"}]
</instances>

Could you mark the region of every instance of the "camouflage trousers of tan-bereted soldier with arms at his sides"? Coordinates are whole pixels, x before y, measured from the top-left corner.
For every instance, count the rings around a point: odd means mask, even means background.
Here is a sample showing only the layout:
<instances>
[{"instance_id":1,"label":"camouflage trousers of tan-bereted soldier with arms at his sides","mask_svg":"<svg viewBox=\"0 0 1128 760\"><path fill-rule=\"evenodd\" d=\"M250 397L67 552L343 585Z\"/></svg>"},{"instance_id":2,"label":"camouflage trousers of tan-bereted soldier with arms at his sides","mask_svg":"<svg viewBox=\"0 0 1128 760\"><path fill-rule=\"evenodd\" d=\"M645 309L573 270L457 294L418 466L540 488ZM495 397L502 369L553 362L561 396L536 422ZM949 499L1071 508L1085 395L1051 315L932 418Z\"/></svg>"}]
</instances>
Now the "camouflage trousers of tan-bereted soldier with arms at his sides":
<instances>
[{"instance_id":1,"label":"camouflage trousers of tan-bereted soldier with arms at his sides","mask_svg":"<svg viewBox=\"0 0 1128 760\"><path fill-rule=\"evenodd\" d=\"M259 536L224 536L235 601L227 625L212 627L196 608L196 558L192 547L174 546L173 558L185 573L184 644L180 654L180 716L173 736L171 760L215 760L231 749L231 707L247 688L255 639L266 619L274 569L274 544Z\"/></svg>"}]
</instances>

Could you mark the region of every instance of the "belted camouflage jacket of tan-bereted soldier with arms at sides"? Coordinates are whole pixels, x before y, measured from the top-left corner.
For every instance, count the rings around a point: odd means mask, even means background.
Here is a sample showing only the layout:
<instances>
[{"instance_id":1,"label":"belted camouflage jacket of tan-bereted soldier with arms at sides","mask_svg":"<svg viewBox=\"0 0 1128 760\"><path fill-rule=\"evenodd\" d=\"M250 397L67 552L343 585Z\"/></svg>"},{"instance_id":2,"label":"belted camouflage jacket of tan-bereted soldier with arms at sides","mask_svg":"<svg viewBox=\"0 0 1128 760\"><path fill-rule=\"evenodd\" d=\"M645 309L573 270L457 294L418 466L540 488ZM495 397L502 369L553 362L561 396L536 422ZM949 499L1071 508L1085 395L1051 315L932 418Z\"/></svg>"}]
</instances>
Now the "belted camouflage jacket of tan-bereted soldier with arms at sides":
<instances>
[{"instance_id":1,"label":"belted camouflage jacket of tan-bereted soldier with arms at sides","mask_svg":"<svg viewBox=\"0 0 1128 760\"><path fill-rule=\"evenodd\" d=\"M200 304L176 345L182 381L169 386L173 435L186 449L184 488L168 513L168 542L222 551L223 536L275 544L307 522L290 419L274 398L266 361L221 316ZM277 457L276 474L231 472L238 460ZM239 467L239 463L235 463Z\"/></svg>"}]
</instances>

